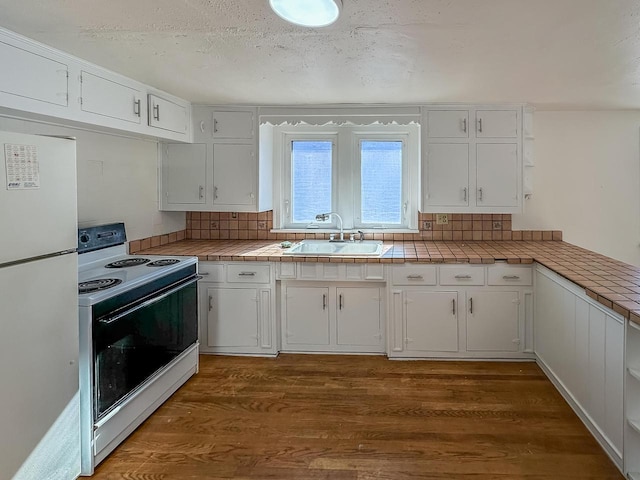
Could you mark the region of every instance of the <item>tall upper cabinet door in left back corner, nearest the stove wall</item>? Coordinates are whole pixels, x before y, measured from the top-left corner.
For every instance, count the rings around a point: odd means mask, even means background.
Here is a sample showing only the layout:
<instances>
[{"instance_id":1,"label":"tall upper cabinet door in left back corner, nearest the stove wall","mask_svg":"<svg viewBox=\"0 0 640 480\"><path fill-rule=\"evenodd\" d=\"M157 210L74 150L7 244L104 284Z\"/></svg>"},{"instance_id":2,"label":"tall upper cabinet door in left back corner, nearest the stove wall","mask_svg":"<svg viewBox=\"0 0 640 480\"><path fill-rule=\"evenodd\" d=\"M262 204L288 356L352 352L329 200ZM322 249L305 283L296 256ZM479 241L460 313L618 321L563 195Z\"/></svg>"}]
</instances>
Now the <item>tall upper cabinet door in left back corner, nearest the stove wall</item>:
<instances>
[{"instance_id":1,"label":"tall upper cabinet door in left back corner, nearest the stove wall","mask_svg":"<svg viewBox=\"0 0 640 480\"><path fill-rule=\"evenodd\" d=\"M168 205L205 203L206 145L165 145L162 172L163 193Z\"/></svg>"}]
</instances>

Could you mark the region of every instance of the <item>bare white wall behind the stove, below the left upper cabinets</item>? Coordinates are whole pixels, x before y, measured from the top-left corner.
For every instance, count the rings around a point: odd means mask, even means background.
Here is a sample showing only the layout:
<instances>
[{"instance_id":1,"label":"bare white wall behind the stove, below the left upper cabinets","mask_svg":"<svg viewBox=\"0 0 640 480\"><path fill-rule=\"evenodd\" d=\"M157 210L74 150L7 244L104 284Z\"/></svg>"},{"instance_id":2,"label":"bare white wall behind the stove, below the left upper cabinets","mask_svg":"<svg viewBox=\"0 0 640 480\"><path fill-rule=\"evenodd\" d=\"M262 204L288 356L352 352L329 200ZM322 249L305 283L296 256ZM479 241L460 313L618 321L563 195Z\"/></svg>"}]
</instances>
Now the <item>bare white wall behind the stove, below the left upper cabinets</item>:
<instances>
[{"instance_id":1,"label":"bare white wall behind the stove, below the left upper cabinets","mask_svg":"<svg viewBox=\"0 0 640 480\"><path fill-rule=\"evenodd\" d=\"M183 212L158 211L155 141L6 117L0 130L76 137L80 226L122 221L129 240L185 228Z\"/></svg>"}]
</instances>

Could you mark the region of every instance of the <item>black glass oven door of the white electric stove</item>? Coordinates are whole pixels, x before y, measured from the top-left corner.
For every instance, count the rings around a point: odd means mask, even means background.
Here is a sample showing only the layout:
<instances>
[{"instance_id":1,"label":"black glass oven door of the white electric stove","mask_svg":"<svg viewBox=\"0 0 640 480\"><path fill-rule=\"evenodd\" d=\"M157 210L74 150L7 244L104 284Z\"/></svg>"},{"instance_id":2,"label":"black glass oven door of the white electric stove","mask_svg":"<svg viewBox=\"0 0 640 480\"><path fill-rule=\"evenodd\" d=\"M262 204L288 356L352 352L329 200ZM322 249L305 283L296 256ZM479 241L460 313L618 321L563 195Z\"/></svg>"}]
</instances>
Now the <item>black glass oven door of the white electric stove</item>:
<instances>
[{"instance_id":1,"label":"black glass oven door of the white electric stove","mask_svg":"<svg viewBox=\"0 0 640 480\"><path fill-rule=\"evenodd\" d=\"M93 321L94 420L197 341L198 277Z\"/></svg>"}]
</instances>

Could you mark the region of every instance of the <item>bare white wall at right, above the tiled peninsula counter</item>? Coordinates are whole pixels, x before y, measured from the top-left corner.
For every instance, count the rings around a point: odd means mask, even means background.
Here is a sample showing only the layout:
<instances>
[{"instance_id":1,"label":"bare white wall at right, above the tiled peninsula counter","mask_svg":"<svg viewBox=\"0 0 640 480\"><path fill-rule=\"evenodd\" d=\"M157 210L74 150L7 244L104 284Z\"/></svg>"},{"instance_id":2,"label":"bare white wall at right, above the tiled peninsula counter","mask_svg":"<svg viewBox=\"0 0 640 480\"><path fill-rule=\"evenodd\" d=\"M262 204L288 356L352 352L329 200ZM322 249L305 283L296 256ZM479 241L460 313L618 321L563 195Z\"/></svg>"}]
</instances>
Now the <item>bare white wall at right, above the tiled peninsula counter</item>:
<instances>
[{"instance_id":1,"label":"bare white wall at right, above the tiled peninsula counter","mask_svg":"<svg viewBox=\"0 0 640 480\"><path fill-rule=\"evenodd\" d=\"M537 111L534 194L513 229L640 266L640 112Z\"/></svg>"}]
</instances>

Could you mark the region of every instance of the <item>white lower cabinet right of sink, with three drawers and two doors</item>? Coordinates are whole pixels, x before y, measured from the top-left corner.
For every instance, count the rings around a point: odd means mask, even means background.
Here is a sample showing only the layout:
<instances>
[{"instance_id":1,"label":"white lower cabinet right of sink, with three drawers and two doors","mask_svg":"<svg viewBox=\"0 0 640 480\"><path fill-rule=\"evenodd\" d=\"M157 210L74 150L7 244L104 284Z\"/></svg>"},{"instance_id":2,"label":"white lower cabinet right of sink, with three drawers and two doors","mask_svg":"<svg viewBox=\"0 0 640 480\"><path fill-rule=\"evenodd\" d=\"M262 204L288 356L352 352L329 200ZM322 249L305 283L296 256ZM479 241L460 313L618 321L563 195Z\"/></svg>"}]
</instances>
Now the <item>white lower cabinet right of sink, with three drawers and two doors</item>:
<instances>
[{"instance_id":1,"label":"white lower cabinet right of sink, with three drawers and two doors","mask_svg":"<svg viewBox=\"0 0 640 480\"><path fill-rule=\"evenodd\" d=\"M390 357L532 358L525 342L533 321L530 266L392 269Z\"/></svg>"}]
</instances>

